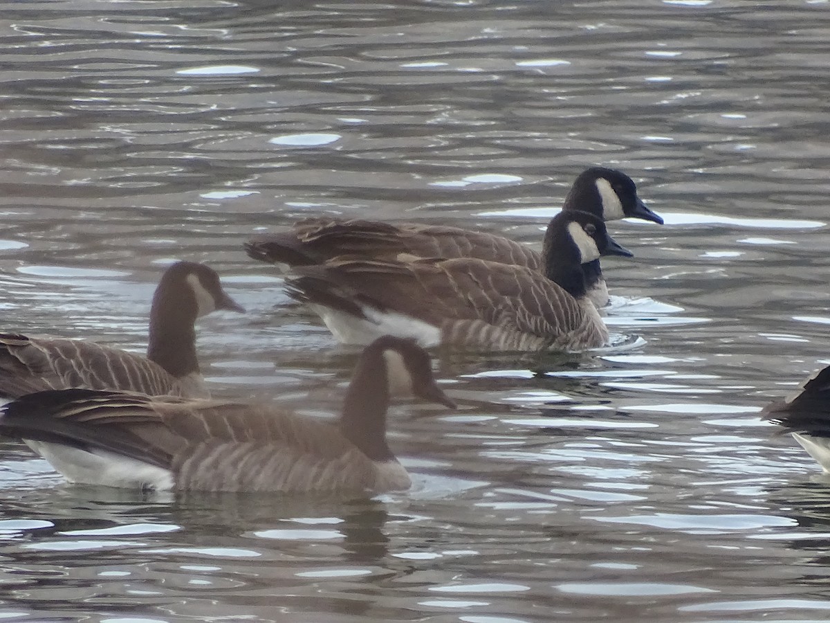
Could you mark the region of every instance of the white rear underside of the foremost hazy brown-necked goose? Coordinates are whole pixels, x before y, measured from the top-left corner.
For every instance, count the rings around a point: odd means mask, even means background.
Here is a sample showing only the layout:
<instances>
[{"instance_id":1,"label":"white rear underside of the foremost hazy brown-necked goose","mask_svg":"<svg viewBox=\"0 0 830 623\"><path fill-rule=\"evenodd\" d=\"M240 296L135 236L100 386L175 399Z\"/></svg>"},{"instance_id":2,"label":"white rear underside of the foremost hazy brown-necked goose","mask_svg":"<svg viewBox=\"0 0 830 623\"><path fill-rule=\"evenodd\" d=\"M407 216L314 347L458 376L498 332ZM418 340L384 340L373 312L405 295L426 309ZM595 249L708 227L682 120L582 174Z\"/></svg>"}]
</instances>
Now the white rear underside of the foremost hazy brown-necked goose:
<instances>
[{"instance_id":1,"label":"white rear underside of the foremost hazy brown-necked goose","mask_svg":"<svg viewBox=\"0 0 830 623\"><path fill-rule=\"evenodd\" d=\"M46 459L71 483L120 488L152 488L166 491L174 486L168 469L141 463L119 454L96 453L61 444L27 440L26 444Z\"/></svg>"}]
</instances>

